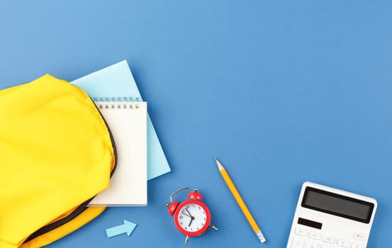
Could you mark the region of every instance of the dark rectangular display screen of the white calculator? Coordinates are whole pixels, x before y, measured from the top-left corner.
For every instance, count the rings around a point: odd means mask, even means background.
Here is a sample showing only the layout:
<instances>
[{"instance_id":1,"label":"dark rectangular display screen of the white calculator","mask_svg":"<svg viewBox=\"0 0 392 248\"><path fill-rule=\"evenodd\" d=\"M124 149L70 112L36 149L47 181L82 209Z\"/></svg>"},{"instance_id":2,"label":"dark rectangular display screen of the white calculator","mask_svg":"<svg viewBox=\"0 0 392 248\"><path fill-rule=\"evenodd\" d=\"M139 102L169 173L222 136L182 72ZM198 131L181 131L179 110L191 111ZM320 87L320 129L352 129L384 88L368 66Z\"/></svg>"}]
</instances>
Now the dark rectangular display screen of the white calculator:
<instances>
[{"instance_id":1,"label":"dark rectangular display screen of the white calculator","mask_svg":"<svg viewBox=\"0 0 392 248\"><path fill-rule=\"evenodd\" d=\"M318 188L306 187L301 205L342 218L369 223L374 204Z\"/></svg>"}]
</instances>

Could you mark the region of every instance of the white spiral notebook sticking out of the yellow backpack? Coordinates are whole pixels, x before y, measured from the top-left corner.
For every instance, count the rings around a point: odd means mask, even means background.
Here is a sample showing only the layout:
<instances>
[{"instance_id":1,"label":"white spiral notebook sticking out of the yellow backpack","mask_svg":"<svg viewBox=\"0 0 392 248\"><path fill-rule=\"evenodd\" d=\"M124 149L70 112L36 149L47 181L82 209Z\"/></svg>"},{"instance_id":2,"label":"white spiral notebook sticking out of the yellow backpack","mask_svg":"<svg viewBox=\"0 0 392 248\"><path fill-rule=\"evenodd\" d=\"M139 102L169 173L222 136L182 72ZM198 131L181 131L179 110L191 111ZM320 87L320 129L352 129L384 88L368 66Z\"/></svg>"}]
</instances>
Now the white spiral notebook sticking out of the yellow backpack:
<instances>
[{"instance_id":1,"label":"white spiral notebook sticking out of the yellow backpack","mask_svg":"<svg viewBox=\"0 0 392 248\"><path fill-rule=\"evenodd\" d=\"M94 103L113 135L117 164L111 185L89 206L147 205L147 102L94 98Z\"/></svg>"}]
</instances>

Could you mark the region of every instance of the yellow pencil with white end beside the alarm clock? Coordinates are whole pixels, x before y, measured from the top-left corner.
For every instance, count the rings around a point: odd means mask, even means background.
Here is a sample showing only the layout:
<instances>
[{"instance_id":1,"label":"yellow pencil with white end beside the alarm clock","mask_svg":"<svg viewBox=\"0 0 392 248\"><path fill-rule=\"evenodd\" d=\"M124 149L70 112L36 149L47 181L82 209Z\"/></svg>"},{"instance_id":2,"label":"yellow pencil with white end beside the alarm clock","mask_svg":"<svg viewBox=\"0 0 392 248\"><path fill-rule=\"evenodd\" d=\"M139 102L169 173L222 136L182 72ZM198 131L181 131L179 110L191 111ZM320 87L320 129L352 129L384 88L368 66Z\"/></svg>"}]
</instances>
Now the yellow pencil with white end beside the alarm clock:
<instances>
[{"instance_id":1,"label":"yellow pencil with white end beside the alarm clock","mask_svg":"<svg viewBox=\"0 0 392 248\"><path fill-rule=\"evenodd\" d=\"M223 167L223 165L220 164L218 159L215 159L215 161L216 161L216 164L218 164L220 174L222 175L223 179L225 180L226 184L228 185L231 193L233 193L235 201L237 201L238 205L240 206L242 213L244 213L250 226L252 227L254 232L256 232L257 237L259 237L260 241L262 243L264 243L266 240L264 238L264 235L262 234L262 230L260 230L260 227L257 225L257 223L254 220L249 209L247 209L247 205L245 204L244 200L242 200L242 197L240 196L240 193L238 193L237 188L235 188L233 181L231 181L230 176L228 174L228 171L226 171L225 167Z\"/></svg>"}]
</instances>

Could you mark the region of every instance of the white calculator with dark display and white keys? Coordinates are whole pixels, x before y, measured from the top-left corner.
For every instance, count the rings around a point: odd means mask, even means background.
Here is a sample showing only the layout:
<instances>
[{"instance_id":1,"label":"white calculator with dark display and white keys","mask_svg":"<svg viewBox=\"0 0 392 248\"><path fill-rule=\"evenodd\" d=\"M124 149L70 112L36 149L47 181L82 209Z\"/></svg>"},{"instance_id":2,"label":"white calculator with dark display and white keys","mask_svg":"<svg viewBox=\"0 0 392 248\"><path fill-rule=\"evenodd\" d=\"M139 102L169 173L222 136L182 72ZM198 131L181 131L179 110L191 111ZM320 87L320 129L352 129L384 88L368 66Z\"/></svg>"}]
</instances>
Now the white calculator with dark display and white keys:
<instances>
[{"instance_id":1,"label":"white calculator with dark display and white keys","mask_svg":"<svg viewBox=\"0 0 392 248\"><path fill-rule=\"evenodd\" d=\"M303 183L287 248L366 248L374 198Z\"/></svg>"}]
</instances>

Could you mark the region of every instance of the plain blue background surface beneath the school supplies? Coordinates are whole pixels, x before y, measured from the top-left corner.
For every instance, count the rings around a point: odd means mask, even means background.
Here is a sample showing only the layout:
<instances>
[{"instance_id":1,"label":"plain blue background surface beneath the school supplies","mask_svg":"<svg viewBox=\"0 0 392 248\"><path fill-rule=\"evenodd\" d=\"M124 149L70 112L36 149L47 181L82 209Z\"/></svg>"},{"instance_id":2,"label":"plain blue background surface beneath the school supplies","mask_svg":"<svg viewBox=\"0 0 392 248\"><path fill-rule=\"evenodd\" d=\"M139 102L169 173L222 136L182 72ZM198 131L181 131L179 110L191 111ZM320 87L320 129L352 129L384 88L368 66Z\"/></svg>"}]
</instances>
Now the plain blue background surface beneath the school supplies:
<instances>
[{"instance_id":1,"label":"plain blue background surface beneath the school supplies","mask_svg":"<svg viewBox=\"0 0 392 248\"><path fill-rule=\"evenodd\" d=\"M389 247L391 13L391 1L1 1L1 89L126 59L172 167L148 182L147 207L108 208L48 247L183 247L165 206L183 186L220 228L189 247L286 247L303 181L376 198L368 247ZM123 219L133 234L107 238Z\"/></svg>"}]
</instances>

